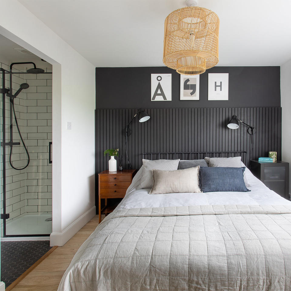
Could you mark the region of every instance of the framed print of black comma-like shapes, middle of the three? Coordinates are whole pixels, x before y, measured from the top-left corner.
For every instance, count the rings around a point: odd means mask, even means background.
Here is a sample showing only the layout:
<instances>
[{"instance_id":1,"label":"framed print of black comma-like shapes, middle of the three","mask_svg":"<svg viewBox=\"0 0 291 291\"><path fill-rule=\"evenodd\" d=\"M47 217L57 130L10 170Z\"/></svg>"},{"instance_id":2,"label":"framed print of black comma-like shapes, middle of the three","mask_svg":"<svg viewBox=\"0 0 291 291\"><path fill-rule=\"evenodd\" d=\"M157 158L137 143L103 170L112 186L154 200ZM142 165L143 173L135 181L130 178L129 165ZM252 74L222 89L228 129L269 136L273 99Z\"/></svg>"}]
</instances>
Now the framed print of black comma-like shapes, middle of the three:
<instances>
[{"instance_id":1,"label":"framed print of black comma-like shapes, middle of the three","mask_svg":"<svg viewBox=\"0 0 291 291\"><path fill-rule=\"evenodd\" d=\"M181 75L180 100L199 100L199 76Z\"/></svg>"}]
</instances>

